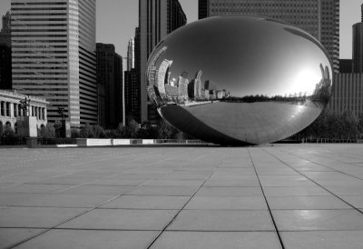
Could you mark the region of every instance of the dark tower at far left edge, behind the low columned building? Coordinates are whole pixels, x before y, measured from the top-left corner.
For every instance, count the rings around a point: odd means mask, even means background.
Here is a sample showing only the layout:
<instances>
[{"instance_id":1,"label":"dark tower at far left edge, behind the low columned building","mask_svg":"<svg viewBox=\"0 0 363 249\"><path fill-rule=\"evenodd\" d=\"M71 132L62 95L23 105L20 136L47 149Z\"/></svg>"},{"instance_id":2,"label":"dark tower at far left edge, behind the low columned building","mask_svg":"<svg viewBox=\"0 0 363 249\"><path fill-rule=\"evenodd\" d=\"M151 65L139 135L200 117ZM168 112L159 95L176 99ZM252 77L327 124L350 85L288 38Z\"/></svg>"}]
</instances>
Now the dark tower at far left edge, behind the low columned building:
<instances>
[{"instance_id":1,"label":"dark tower at far left edge, behind the low columned building","mask_svg":"<svg viewBox=\"0 0 363 249\"><path fill-rule=\"evenodd\" d=\"M8 11L2 18L0 31L0 89L12 89L11 65L11 15Z\"/></svg>"}]
</instances>

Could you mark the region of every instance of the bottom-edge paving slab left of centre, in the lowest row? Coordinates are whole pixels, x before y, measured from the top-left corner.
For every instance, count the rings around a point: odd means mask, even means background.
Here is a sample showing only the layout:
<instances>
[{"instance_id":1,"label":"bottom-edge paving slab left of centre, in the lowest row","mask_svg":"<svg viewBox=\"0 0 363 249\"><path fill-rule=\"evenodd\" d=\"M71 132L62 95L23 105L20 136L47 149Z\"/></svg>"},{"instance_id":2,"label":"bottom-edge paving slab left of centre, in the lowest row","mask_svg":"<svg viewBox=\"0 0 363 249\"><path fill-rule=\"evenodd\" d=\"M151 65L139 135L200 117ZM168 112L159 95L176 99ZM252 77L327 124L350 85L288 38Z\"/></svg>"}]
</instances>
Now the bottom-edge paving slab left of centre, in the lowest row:
<instances>
[{"instance_id":1,"label":"bottom-edge paving slab left of centre, in the lowest row","mask_svg":"<svg viewBox=\"0 0 363 249\"><path fill-rule=\"evenodd\" d=\"M16 248L140 249L151 244L155 231L100 231L54 229Z\"/></svg>"}]
</instances>

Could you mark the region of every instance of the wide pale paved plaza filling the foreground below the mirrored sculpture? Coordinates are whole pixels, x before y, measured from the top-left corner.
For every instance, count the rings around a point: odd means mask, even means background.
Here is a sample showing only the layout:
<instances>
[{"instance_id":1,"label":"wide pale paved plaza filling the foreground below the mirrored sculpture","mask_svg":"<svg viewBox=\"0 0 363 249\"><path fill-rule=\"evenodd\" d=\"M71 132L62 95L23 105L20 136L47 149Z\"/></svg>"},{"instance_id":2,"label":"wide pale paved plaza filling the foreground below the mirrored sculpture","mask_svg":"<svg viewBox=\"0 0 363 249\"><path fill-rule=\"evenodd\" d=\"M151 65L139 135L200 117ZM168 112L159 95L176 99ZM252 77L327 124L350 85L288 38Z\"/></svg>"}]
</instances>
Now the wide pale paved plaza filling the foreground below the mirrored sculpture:
<instances>
[{"instance_id":1,"label":"wide pale paved plaza filling the foreground below the mirrored sculpture","mask_svg":"<svg viewBox=\"0 0 363 249\"><path fill-rule=\"evenodd\" d=\"M0 149L1 248L363 248L363 144Z\"/></svg>"}]
</instances>

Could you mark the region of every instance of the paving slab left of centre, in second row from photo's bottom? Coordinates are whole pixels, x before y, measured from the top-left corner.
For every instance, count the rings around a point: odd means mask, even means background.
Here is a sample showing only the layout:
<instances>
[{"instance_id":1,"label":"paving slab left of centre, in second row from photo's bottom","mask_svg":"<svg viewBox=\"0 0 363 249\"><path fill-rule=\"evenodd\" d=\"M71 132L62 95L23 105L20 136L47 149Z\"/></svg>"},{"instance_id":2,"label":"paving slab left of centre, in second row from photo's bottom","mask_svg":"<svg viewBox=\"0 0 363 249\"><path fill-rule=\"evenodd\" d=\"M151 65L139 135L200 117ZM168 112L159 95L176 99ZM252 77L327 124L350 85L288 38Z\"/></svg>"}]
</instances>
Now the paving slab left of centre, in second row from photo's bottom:
<instances>
[{"instance_id":1,"label":"paving slab left of centre, in second row from photo's bottom","mask_svg":"<svg viewBox=\"0 0 363 249\"><path fill-rule=\"evenodd\" d=\"M162 230L177 210L95 209L58 228Z\"/></svg>"}]
</instances>

